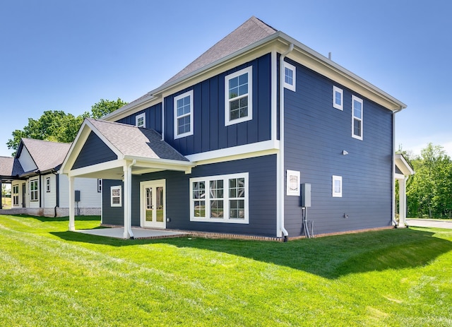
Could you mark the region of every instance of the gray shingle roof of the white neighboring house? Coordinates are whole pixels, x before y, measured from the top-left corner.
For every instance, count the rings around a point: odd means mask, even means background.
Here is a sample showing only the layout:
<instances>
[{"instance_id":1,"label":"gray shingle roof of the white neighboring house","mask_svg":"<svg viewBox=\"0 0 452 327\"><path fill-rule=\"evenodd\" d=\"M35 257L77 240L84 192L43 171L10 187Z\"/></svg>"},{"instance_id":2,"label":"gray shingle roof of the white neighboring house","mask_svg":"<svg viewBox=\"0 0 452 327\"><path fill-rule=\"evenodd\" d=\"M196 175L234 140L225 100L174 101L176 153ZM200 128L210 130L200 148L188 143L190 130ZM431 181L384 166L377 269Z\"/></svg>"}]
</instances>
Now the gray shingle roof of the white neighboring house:
<instances>
[{"instance_id":1,"label":"gray shingle roof of the white neighboring house","mask_svg":"<svg viewBox=\"0 0 452 327\"><path fill-rule=\"evenodd\" d=\"M41 172L58 169L71 148L71 143L35 140L34 138L22 138L22 143Z\"/></svg>"}]
</instances>

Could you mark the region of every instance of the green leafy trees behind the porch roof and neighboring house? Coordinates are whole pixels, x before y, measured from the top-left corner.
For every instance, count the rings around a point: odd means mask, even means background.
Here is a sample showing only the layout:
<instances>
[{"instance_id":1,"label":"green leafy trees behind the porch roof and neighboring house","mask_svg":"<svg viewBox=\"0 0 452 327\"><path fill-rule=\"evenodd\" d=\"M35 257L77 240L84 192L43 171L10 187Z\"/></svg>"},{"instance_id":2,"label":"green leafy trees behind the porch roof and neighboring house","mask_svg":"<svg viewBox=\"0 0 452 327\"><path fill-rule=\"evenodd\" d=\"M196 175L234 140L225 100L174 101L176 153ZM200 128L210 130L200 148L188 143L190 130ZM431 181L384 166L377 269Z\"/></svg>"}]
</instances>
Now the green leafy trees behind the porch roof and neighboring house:
<instances>
[{"instance_id":1,"label":"green leafy trees behind the porch roof and neighboring house","mask_svg":"<svg viewBox=\"0 0 452 327\"><path fill-rule=\"evenodd\" d=\"M6 145L8 149L13 149L13 155L16 155L21 138L71 143L76 138L83 119L103 117L124 105L127 105L127 102L122 101L119 97L116 101L101 99L91 107L91 112L85 112L77 117L61 110L44 111L39 119L29 118L27 126L13 131L13 138L9 139Z\"/></svg>"}]
</instances>

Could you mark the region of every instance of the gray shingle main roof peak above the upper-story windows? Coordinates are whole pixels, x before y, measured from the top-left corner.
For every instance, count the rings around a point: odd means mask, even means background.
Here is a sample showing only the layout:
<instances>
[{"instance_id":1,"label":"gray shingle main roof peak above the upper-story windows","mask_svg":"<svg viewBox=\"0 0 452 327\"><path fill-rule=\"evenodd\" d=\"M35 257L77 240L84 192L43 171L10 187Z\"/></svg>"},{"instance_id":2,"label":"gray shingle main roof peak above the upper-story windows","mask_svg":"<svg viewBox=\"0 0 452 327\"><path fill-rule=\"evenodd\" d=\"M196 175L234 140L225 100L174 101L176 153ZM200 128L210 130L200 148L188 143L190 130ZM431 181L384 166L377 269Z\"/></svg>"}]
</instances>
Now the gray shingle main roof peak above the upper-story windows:
<instances>
[{"instance_id":1,"label":"gray shingle main roof peak above the upper-story windows","mask_svg":"<svg viewBox=\"0 0 452 327\"><path fill-rule=\"evenodd\" d=\"M182 71L170 78L163 85L176 81L189 73L201 69L208 64L220 60L228 55L243 49L244 47L262 40L269 35L273 35L278 30L275 30L270 25L263 23L262 20L252 16L245 23L240 25L236 30L228 34L222 40L217 42L213 47L201 54L189 66L186 66Z\"/></svg>"}]
</instances>

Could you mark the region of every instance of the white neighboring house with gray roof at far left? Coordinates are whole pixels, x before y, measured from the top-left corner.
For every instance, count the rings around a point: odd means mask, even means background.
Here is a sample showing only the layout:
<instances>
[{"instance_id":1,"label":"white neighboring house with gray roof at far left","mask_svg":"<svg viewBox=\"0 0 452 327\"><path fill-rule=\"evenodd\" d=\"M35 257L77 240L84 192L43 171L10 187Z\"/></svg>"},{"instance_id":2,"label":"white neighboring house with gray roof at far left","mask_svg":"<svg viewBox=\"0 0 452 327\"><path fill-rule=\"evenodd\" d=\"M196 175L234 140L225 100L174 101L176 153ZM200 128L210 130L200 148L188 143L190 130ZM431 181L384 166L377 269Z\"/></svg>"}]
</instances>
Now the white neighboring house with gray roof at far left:
<instances>
[{"instance_id":1,"label":"white neighboring house with gray roof at far left","mask_svg":"<svg viewBox=\"0 0 452 327\"><path fill-rule=\"evenodd\" d=\"M0 174L11 183L11 210L30 215L69 215L69 186L66 175L59 174L70 143L22 138L15 157L0 157ZM77 179L78 215L100 215L102 181Z\"/></svg>"}]
</instances>

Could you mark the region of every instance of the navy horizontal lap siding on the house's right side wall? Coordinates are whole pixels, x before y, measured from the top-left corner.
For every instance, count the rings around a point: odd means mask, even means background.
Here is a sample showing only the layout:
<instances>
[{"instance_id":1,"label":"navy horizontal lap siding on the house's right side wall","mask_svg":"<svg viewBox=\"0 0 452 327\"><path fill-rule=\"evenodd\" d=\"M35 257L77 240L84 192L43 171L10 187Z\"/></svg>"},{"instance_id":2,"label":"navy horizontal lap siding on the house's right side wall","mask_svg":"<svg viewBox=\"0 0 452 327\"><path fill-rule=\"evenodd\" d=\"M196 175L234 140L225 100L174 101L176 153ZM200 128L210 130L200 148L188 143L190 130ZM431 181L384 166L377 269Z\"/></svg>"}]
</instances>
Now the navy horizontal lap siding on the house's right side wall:
<instances>
[{"instance_id":1,"label":"navy horizontal lap siding on the house's right side wall","mask_svg":"<svg viewBox=\"0 0 452 327\"><path fill-rule=\"evenodd\" d=\"M290 63L297 92L285 90L285 171L299 171L300 182L311 184L314 234L391 225L392 112ZM333 108L333 85L343 89L343 111ZM362 141L352 138L352 95L363 100ZM333 175L342 177L342 197L332 196ZM290 236L302 233L298 196L285 196L285 227Z\"/></svg>"}]
</instances>

